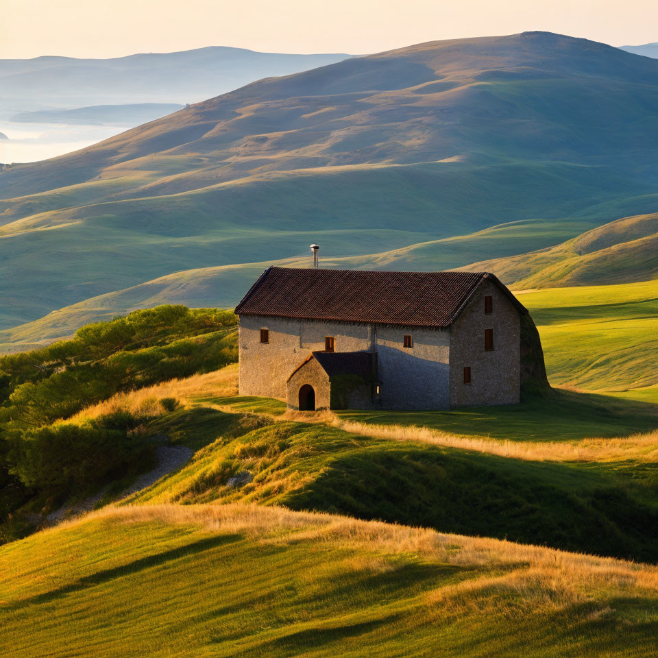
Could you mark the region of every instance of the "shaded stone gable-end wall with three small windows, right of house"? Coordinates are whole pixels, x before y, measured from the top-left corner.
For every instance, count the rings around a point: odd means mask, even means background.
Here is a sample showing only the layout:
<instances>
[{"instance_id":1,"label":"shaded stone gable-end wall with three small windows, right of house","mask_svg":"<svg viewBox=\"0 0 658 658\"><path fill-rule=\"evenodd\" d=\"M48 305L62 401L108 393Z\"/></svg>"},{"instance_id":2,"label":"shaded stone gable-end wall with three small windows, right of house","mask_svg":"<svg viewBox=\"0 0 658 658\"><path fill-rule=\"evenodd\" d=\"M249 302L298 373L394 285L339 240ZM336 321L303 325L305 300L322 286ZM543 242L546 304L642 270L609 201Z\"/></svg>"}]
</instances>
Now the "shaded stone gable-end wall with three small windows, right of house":
<instances>
[{"instance_id":1,"label":"shaded stone gable-end wall with three small windows, right of house","mask_svg":"<svg viewBox=\"0 0 658 658\"><path fill-rule=\"evenodd\" d=\"M485 295L493 313L485 313ZM485 350L493 329L493 350ZM471 383L464 383L464 367ZM514 404L520 399L520 315L497 284L487 280L450 330L450 406Z\"/></svg>"}]
</instances>

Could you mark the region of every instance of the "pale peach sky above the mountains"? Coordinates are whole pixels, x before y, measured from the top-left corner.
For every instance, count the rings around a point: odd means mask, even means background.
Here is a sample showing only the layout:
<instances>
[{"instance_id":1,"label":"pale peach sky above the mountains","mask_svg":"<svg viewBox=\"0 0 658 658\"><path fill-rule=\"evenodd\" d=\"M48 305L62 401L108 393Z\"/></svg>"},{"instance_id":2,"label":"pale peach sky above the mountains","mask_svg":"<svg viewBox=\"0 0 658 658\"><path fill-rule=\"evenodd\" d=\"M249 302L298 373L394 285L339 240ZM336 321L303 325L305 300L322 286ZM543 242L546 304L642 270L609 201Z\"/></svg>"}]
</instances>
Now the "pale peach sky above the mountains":
<instances>
[{"instance_id":1,"label":"pale peach sky above the mountains","mask_svg":"<svg viewBox=\"0 0 658 658\"><path fill-rule=\"evenodd\" d=\"M658 0L2 0L0 58L119 57L204 46L374 53L544 29L658 41Z\"/></svg>"}]
</instances>

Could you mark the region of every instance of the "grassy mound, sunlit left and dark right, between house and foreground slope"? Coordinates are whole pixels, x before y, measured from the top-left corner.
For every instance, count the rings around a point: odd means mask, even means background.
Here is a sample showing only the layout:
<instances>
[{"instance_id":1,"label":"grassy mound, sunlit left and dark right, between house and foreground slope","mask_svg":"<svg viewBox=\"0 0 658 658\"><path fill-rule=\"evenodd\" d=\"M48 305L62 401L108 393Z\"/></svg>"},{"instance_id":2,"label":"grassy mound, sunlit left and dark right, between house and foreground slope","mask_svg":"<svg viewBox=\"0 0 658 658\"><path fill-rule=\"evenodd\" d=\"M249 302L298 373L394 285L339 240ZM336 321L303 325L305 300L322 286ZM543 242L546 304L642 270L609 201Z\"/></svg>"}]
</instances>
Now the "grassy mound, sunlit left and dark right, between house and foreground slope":
<instances>
[{"instance_id":1,"label":"grassy mound, sunlit left and dark right, between house and foreground slope","mask_svg":"<svg viewBox=\"0 0 658 658\"><path fill-rule=\"evenodd\" d=\"M249 415L213 412L207 403L164 416L158 430L197 453L128 502L281 505L658 560L653 461L639 458L631 478L620 461L530 461L323 423L253 426ZM204 439L211 442L200 448ZM232 484L245 474L247 480Z\"/></svg>"}]
</instances>

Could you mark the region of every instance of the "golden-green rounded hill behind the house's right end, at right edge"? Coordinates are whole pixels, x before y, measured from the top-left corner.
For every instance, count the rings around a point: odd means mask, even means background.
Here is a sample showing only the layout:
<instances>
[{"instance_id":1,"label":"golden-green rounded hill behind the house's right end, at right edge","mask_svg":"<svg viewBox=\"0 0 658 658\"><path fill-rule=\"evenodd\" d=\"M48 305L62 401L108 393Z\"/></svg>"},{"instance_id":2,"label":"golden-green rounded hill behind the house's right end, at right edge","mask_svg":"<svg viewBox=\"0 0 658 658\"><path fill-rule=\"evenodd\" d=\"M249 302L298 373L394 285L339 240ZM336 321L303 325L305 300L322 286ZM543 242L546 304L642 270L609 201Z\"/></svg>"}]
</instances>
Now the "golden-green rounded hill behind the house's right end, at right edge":
<instances>
[{"instance_id":1,"label":"golden-green rounded hill behind the house's right end, at right edge","mask_svg":"<svg viewBox=\"0 0 658 658\"><path fill-rule=\"evenodd\" d=\"M624 217L556 247L484 260L463 269L492 271L517 289L655 279L658 278L658 213Z\"/></svg>"}]
</instances>

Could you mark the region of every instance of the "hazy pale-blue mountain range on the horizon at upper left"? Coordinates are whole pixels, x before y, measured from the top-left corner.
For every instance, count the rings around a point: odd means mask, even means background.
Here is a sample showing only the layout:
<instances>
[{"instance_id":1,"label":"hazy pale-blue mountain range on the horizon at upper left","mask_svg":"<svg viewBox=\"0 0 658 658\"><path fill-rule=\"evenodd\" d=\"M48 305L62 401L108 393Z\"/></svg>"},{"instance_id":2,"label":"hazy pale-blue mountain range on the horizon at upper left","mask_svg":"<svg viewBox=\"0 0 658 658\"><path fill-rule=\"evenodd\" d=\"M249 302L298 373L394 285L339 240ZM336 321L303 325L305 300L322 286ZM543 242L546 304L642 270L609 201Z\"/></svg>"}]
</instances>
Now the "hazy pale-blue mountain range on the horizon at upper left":
<instances>
[{"instance_id":1,"label":"hazy pale-blue mountain range on the horizon at upper left","mask_svg":"<svg viewBox=\"0 0 658 658\"><path fill-rule=\"evenodd\" d=\"M0 112L125 103L192 103L271 75L348 58L213 46L110 59L0 60Z\"/></svg>"}]
</instances>

